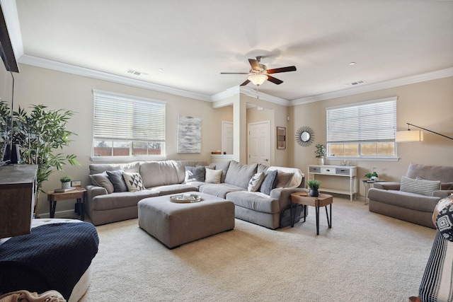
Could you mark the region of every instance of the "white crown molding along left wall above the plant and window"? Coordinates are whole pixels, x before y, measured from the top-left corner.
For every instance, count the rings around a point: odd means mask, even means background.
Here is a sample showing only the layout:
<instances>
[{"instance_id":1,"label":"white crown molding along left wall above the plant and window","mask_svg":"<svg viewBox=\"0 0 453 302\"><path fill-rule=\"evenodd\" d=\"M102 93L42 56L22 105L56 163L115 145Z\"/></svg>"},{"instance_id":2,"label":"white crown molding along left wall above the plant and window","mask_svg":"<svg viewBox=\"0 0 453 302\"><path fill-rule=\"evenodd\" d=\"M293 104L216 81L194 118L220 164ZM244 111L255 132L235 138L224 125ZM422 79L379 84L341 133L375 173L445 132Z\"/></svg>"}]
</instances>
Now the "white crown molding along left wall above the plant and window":
<instances>
[{"instance_id":1,"label":"white crown molding along left wall above the plant and window","mask_svg":"<svg viewBox=\"0 0 453 302\"><path fill-rule=\"evenodd\" d=\"M103 81L110 81L113 83L120 83L123 85L148 89L151 91L159 91L162 93L169 93L172 95L184 96L186 98L195 98L196 100L205 100L208 102L211 101L210 95L203 95L200 93L184 91L184 90L178 89L178 88L171 88L168 86L149 83L146 81L130 79L125 76L117 76L115 74L108 74L107 72L103 72L103 71L96 71L93 69L74 66L71 64L55 62L55 61L52 61L49 59L42 59L39 57L29 56L27 54L24 54L22 57L20 57L18 62L21 64L25 64L25 65L36 66L36 67L41 67L41 68L45 68L45 69L51 69L51 70L55 70L55 71L61 71L61 72L65 72L67 74L76 74L77 76L86 76L88 78L98 79L98 80L103 80Z\"/></svg>"}]
</instances>

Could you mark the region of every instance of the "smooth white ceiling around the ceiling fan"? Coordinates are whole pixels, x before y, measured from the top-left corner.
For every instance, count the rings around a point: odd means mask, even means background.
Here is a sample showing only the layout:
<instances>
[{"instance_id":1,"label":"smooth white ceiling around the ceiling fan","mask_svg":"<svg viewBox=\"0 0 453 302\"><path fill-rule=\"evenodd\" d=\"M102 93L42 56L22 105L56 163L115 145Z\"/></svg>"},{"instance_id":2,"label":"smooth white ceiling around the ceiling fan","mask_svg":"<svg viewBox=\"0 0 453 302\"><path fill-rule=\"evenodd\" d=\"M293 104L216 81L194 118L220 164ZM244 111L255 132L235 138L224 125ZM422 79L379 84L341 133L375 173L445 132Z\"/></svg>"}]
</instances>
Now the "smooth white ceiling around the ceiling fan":
<instances>
[{"instance_id":1,"label":"smooth white ceiling around the ceiling fan","mask_svg":"<svg viewBox=\"0 0 453 302\"><path fill-rule=\"evenodd\" d=\"M453 67L453 1L16 0L16 7L25 57L208 96L245 81L220 72L248 72L257 55L268 69L297 67L273 74L281 85L259 88L285 100Z\"/></svg>"}]
</instances>

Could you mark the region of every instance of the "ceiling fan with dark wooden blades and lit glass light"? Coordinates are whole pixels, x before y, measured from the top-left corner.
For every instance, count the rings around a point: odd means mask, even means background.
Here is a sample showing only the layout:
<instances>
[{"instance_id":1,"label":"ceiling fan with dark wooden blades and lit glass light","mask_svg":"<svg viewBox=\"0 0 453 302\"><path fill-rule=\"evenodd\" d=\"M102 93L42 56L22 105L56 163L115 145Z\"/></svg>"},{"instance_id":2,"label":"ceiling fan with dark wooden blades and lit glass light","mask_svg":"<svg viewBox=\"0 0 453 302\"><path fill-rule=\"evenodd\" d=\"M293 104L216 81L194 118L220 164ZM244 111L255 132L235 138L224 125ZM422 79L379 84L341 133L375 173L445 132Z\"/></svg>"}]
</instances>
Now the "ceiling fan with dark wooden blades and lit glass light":
<instances>
[{"instance_id":1,"label":"ceiling fan with dark wooden blades and lit glass light","mask_svg":"<svg viewBox=\"0 0 453 302\"><path fill-rule=\"evenodd\" d=\"M281 68L275 68L275 69L267 69L267 67L264 64L260 64L261 59L263 57L258 56L255 59L248 59L248 62L250 63L250 66L252 69L250 69L249 72L221 72L220 74L248 74L248 79L241 83L241 86L246 86L248 83L252 82L253 84L260 86L264 81L268 80L270 82L273 82L277 85L280 85L283 83L282 80L279 80L277 78L274 78L273 76L270 76L269 74L277 74L279 72L288 72L288 71L296 71L296 66L287 66L287 67L281 67Z\"/></svg>"}]
</instances>

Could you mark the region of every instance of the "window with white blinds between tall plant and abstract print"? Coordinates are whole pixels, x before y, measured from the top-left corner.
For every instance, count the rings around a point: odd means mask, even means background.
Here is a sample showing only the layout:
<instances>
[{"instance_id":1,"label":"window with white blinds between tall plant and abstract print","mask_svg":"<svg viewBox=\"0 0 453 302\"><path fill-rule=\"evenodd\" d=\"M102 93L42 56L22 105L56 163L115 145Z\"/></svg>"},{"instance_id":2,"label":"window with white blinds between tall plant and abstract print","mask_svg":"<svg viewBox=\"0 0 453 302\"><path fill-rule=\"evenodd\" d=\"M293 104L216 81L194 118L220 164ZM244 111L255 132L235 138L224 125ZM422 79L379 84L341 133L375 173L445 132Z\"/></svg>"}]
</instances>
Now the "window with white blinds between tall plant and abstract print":
<instances>
[{"instance_id":1,"label":"window with white blinds between tall plant and abstract print","mask_svg":"<svg viewBox=\"0 0 453 302\"><path fill-rule=\"evenodd\" d=\"M94 158L164 156L166 102L97 90L93 95Z\"/></svg>"}]
</instances>

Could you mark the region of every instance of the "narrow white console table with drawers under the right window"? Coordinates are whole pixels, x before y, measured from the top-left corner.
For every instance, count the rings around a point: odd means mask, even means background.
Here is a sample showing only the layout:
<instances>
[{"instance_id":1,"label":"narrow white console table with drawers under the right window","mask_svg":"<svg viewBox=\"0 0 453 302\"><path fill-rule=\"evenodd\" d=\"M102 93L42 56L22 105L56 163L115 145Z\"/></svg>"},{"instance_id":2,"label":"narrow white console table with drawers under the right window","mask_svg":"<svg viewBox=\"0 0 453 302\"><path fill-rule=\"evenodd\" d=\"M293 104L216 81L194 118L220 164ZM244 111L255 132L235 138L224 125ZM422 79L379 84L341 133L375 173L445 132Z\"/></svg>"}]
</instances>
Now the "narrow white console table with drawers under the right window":
<instances>
[{"instance_id":1,"label":"narrow white console table with drawers under the right window","mask_svg":"<svg viewBox=\"0 0 453 302\"><path fill-rule=\"evenodd\" d=\"M357 167L353 165L309 165L308 180L315 179L316 175L326 175L328 177L349 178L349 188L334 189L321 185L321 192L331 192L336 194L346 194L352 198L357 194ZM324 177L324 176L323 176Z\"/></svg>"}]
</instances>

